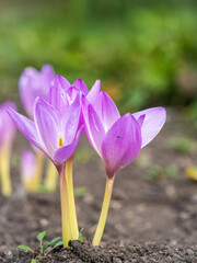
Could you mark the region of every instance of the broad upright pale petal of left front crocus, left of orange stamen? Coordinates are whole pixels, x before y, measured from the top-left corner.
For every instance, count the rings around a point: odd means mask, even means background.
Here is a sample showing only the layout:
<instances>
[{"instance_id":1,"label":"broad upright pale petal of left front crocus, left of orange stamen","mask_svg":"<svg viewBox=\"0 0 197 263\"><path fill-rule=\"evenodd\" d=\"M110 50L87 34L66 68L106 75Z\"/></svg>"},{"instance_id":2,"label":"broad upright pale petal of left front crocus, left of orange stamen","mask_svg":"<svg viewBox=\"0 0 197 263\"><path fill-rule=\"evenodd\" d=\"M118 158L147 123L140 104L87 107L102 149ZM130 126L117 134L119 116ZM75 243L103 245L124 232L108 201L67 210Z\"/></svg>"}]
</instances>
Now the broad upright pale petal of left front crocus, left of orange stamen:
<instances>
[{"instance_id":1,"label":"broad upright pale petal of left front crocus, left of orange stamen","mask_svg":"<svg viewBox=\"0 0 197 263\"><path fill-rule=\"evenodd\" d=\"M50 158L59 147L59 117L57 111L38 96L35 101L34 119L42 140L48 149Z\"/></svg>"}]
</instances>

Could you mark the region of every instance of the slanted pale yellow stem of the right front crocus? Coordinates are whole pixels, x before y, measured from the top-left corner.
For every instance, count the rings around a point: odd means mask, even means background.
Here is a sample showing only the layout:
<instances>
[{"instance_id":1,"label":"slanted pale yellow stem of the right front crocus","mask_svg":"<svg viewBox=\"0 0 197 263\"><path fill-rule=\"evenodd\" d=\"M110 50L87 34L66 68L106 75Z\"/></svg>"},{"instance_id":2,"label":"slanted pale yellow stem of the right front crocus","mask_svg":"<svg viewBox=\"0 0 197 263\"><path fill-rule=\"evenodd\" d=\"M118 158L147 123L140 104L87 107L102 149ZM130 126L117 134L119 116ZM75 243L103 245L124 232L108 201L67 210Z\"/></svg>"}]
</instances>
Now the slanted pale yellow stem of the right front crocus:
<instances>
[{"instance_id":1,"label":"slanted pale yellow stem of the right front crocus","mask_svg":"<svg viewBox=\"0 0 197 263\"><path fill-rule=\"evenodd\" d=\"M106 176L105 195L104 195L104 199L103 199L103 206L102 206L100 220L99 220L97 228L96 228L96 231L94 235L94 239L92 241L93 245L99 245L101 242L102 236L103 236L103 231L104 231L106 218L107 218L107 213L108 213L108 207L109 207L109 203L111 203L113 184L114 184L114 176L112 179Z\"/></svg>"}]
</instances>

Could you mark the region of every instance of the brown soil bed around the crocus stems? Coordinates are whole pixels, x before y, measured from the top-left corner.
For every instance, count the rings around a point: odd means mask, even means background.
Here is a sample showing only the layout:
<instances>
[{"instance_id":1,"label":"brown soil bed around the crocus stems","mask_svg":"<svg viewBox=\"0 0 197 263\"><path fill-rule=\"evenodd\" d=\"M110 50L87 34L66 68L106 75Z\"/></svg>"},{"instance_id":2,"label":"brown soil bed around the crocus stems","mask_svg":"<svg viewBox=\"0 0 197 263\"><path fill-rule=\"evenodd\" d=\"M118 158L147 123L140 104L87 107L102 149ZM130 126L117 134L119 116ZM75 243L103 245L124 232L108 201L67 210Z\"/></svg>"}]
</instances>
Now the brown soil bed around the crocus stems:
<instances>
[{"instance_id":1,"label":"brown soil bed around the crocus stems","mask_svg":"<svg viewBox=\"0 0 197 263\"><path fill-rule=\"evenodd\" d=\"M101 159L82 138L74 163L74 186L86 187L76 197L84 241L72 241L71 249L56 249L43 262L197 262L197 182L185 170L197 163L197 150L187 153L167 147L171 138L187 137L196 146L192 123L174 114L160 135L130 165L118 172L109 214L100 247L92 247L100 216L105 170ZM19 155L27 141L18 135L12 159L13 194L0 196L0 262L28 263L35 256L18 249L38 248L36 235L47 230L46 240L61 237L59 191L27 193L21 185ZM84 158L84 156L89 158ZM159 165L160 174L148 178ZM169 167L176 169L166 176Z\"/></svg>"}]
</instances>

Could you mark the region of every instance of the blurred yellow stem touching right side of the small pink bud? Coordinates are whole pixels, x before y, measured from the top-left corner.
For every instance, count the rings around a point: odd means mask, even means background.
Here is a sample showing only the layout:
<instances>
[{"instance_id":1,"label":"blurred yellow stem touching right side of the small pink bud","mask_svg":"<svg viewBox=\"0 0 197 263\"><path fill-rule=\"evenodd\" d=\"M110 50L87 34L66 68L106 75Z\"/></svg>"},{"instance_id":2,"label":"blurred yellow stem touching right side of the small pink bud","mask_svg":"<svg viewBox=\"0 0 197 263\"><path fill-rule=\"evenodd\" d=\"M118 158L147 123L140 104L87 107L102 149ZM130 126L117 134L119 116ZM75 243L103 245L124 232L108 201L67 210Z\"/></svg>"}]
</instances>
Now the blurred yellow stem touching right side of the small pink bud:
<instances>
[{"instance_id":1,"label":"blurred yellow stem touching right side of the small pink bud","mask_svg":"<svg viewBox=\"0 0 197 263\"><path fill-rule=\"evenodd\" d=\"M37 191L40 185L42 174L43 174L43 164L44 164L44 153L42 151L36 152L36 170L31 182L30 191Z\"/></svg>"}]
</instances>

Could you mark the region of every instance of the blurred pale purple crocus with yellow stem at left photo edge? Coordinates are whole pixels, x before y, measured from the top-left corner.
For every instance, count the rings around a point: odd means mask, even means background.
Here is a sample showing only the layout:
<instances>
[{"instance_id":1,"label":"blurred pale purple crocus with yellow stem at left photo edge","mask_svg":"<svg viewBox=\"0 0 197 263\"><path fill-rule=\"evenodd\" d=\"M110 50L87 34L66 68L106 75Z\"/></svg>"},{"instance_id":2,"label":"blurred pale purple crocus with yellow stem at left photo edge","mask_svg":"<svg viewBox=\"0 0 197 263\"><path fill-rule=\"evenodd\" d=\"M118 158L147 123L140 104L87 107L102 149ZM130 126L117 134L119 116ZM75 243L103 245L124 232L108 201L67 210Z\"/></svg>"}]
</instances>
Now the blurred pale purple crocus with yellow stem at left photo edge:
<instances>
[{"instance_id":1,"label":"blurred pale purple crocus with yellow stem at left photo edge","mask_svg":"<svg viewBox=\"0 0 197 263\"><path fill-rule=\"evenodd\" d=\"M0 106L0 176L2 194L11 195L10 153L15 135L15 127L7 113L7 108L15 110L13 102L5 102Z\"/></svg>"}]
</instances>

